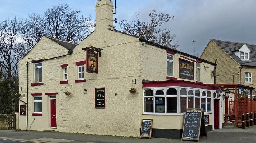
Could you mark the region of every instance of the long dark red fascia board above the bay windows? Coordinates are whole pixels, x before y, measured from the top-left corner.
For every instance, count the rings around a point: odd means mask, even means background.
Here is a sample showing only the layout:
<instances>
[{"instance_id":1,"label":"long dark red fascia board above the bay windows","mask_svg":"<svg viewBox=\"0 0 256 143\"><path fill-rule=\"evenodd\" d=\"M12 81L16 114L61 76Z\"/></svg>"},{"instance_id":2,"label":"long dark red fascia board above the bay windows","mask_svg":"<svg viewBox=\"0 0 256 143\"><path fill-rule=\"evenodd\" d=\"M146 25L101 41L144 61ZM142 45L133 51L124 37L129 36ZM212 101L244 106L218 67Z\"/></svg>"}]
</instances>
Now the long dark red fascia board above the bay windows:
<instances>
[{"instance_id":1,"label":"long dark red fascia board above the bay windows","mask_svg":"<svg viewBox=\"0 0 256 143\"><path fill-rule=\"evenodd\" d=\"M209 84L202 84L184 80L165 80L165 81L147 81L142 82L142 87L169 87L169 86L183 86L191 88L201 88L206 90L213 90L214 86Z\"/></svg>"}]
</instances>

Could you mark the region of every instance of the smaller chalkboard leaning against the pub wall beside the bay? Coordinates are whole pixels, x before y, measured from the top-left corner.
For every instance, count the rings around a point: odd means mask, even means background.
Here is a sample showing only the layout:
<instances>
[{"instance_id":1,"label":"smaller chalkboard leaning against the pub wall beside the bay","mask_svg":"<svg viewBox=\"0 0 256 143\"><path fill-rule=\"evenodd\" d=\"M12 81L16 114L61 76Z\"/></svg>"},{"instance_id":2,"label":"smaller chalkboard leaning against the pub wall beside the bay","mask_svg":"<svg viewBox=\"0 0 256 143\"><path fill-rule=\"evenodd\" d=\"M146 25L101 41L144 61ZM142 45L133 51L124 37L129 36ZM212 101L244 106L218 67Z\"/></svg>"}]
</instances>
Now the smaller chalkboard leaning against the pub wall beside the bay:
<instances>
[{"instance_id":1,"label":"smaller chalkboard leaning against the pub wall beside the bay","mask_svg":"<svg viewBox=\"0 0 256 143\"><path fill-rule=\"evenodd\" d=\"M141 137L149 137L151 139L153 119L142 119Z\"/></svg>"}]
</instances>

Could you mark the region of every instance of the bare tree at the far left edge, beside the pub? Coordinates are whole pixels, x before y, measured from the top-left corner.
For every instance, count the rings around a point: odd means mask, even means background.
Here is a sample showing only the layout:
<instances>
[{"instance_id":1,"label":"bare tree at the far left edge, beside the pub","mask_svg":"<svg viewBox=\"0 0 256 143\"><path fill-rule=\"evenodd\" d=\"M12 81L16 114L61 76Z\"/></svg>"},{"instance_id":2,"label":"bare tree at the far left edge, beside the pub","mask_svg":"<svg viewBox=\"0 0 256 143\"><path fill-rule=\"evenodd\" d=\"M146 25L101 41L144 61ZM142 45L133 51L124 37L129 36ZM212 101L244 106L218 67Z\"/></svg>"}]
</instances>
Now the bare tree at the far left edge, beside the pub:
<instances>
[{"instance_id":1,"label":"bare tree at the far left edge, beside the pub","mask_svg":"<svg viewBox=\"0 0 256 143\"><path fill-rule=\"evenodd\" d=\"M1 76L8 84L10 102L15 111L15 93L18 92L18 61L27 51L23 49L19 36L22 21L14 18L0 23L0 65Z\"/></svg>"}]
</instances>

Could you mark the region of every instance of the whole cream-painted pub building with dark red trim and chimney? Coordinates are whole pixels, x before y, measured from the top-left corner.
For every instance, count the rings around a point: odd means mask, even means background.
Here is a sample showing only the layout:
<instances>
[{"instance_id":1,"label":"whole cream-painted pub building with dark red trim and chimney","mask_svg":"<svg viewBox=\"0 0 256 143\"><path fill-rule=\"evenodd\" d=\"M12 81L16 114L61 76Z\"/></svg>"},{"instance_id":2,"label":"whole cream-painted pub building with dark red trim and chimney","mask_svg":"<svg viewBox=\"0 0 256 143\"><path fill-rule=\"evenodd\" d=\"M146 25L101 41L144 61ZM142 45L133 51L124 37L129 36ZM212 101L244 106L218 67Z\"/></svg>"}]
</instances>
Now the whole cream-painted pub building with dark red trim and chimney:
<instances>
[{"instance_id":1,"label":"whole cream-painted pub building with dark red trim and chimney","mask_svg":"<svg viewBox=\"0 0 256 143\"><path fill-rule=\"evenodd\" d=\"M207 131L222 128L215 63L115 30L110 0L95 8L81 43L45 35L20 60L21 130L139 137L153 119L152 137L180 139L186 108L203 109Z\"/></svg>"}]
</instances>

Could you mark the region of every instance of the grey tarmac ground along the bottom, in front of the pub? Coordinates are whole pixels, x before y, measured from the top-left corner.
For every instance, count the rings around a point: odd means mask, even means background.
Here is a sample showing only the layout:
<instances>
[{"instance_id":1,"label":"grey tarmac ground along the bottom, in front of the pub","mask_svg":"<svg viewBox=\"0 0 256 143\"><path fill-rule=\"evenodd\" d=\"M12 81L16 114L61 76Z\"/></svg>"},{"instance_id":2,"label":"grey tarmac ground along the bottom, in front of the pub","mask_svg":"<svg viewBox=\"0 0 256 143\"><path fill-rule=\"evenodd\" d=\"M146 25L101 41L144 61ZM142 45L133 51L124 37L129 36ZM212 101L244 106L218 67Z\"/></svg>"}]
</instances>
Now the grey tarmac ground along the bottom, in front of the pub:
<instances>
[{"instance_id":1,"label":"grey tarmac ground along the bottom, in front of the pub","mask_svg":"<svg viewBox=\"0 0 256 143\"><path fill-rule=\"evenodd\" d=\"M190 143L181 139L165 138L129 138L118 136L88 135L79 133L61 133L49 131L22 131L0 130L0 143ZM206 137L200 137L201 143L256 143L256 125L245 129L232 125L224 126L223 129L215 129L207 132Z\"/></svg>"}]
</instances>

